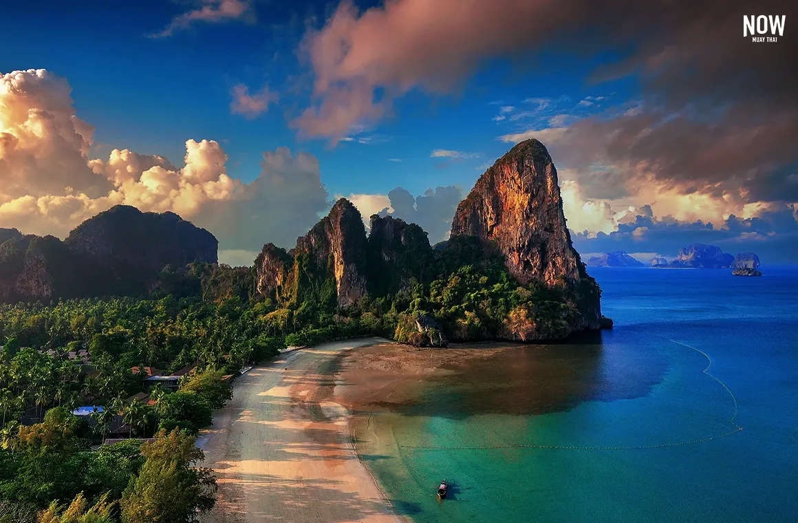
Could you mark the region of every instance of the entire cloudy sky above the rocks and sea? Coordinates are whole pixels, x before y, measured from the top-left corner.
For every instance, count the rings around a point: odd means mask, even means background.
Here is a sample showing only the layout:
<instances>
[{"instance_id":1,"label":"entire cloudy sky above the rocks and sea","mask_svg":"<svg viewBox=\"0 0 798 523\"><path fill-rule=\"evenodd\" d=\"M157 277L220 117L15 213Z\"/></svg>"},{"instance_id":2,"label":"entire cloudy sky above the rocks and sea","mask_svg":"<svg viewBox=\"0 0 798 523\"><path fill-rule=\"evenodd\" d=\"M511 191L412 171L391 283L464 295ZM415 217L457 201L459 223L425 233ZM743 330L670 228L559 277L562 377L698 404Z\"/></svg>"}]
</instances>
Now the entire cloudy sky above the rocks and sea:
<instances>
[{"instance_id":1,"label":"entire cloudy sky above the rocks and sea","mask_svg":"<svg viewBox=\"0 0 798 523\"><path fill-rule=\"evenodd\" d=\"M796 2L2 10L0 227L63 238L132 204L250 264L343 196L435 243L480 174L534 137L583 255L701 242L798 263ZM744 36L751 14L786 17L776 42Z\"/></svg>"}]
</instances>

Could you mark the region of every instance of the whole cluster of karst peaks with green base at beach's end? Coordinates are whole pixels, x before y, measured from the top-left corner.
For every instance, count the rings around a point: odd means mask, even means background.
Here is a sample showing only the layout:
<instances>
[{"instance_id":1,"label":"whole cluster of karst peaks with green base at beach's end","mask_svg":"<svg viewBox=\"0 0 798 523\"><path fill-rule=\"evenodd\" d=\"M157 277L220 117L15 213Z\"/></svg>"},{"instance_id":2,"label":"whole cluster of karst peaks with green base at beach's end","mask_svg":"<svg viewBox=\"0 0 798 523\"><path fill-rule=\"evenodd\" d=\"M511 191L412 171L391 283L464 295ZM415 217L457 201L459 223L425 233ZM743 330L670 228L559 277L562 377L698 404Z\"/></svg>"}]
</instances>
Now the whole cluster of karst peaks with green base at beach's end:
<instances>
[{"instance_id":1,"label":"whole cluster of karst peaks with green base at beach's end","mask_svg":"<svg viewBox=\"0 0 798 523\"><path fill-rule=\"evenodd\" d=\"M427 316L464 340L559 339L602 325L599 286L571 245L557 171L534 140L480 177L457 208L448 244L433 249L417 224L391 216L372 216L366 236L358 209L341 199L295 248L264 246L255 272L259 294L289 310L333 311L365 296L392 297L381 303L391 307L383 314L397 332L405 319L423 331ZM465 291L476 273L486 287ZM504 291L490 281L504 281ZM474 291L487 294L472 303Z\"/></svg>"}]
</instances>

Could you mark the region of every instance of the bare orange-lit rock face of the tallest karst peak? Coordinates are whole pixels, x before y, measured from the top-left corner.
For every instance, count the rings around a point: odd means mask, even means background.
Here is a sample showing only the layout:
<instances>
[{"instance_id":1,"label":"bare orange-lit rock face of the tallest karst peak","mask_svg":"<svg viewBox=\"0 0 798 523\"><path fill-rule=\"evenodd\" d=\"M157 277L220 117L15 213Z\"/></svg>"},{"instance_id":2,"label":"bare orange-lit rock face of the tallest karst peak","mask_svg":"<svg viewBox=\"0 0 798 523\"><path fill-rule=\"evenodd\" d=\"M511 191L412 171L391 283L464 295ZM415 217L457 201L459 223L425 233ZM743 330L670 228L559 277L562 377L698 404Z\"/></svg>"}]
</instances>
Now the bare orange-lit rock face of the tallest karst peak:
<instances>
[{"instance_id":1,"label":"bare orange-lit rock face of the tallest karst peak","mask_svg":"<svg viewBox=\"0 0 798 523\"><path fill-rule=\"evenodd\" d=\"M557 169L539 141L519 143L480 176L457 206L458 235L495 243L520 283L579 286L583 327L599 328L599 287L571 244Z\"/></svg>"}]
</instances>

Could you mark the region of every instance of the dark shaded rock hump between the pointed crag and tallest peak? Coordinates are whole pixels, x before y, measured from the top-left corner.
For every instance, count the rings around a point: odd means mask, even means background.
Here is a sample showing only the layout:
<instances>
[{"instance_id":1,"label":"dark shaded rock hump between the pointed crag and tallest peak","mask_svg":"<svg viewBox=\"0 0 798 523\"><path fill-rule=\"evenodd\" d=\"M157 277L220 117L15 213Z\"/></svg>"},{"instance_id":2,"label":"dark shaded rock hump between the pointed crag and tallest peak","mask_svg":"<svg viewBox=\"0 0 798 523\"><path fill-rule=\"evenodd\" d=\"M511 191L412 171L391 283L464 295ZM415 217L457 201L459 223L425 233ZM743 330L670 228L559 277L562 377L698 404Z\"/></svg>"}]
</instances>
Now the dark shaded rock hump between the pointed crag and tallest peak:
<instances>
[{"instance_id":1,"label":"dark shaded rock hump between the pointed crag and tallest peak","mask_svg":"<svg viewBox=\"0 0 798 523\"><path fill-rule=\"evenodd\" d=\"M385 296L423 282L433 250L424 229L393 216L371 216L369 233L369 294Z\"/></svg>"}]
</instances>

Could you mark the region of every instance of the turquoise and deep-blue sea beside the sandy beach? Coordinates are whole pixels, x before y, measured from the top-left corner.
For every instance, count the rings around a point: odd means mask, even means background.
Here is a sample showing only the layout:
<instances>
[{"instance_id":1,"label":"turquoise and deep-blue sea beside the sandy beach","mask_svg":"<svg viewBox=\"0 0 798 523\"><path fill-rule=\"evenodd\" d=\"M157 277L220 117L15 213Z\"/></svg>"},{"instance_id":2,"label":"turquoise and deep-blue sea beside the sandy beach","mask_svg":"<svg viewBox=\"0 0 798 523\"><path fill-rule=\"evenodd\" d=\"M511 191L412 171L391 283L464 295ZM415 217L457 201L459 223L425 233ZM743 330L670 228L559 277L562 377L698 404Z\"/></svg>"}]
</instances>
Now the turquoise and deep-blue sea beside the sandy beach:
<instances>
[{"instance_id":1,"label":"turquoise and deep-blue sea beside the sandy beach","mask_svg":"<svg viewBox=\"0 0 798 523\"><path fill-rule=\"evenodd\" d=\"M591 269L613 331L430 382L359 450L413 521L798 521L798 267L763 271Z\"/></svg>"}]
</instances>

